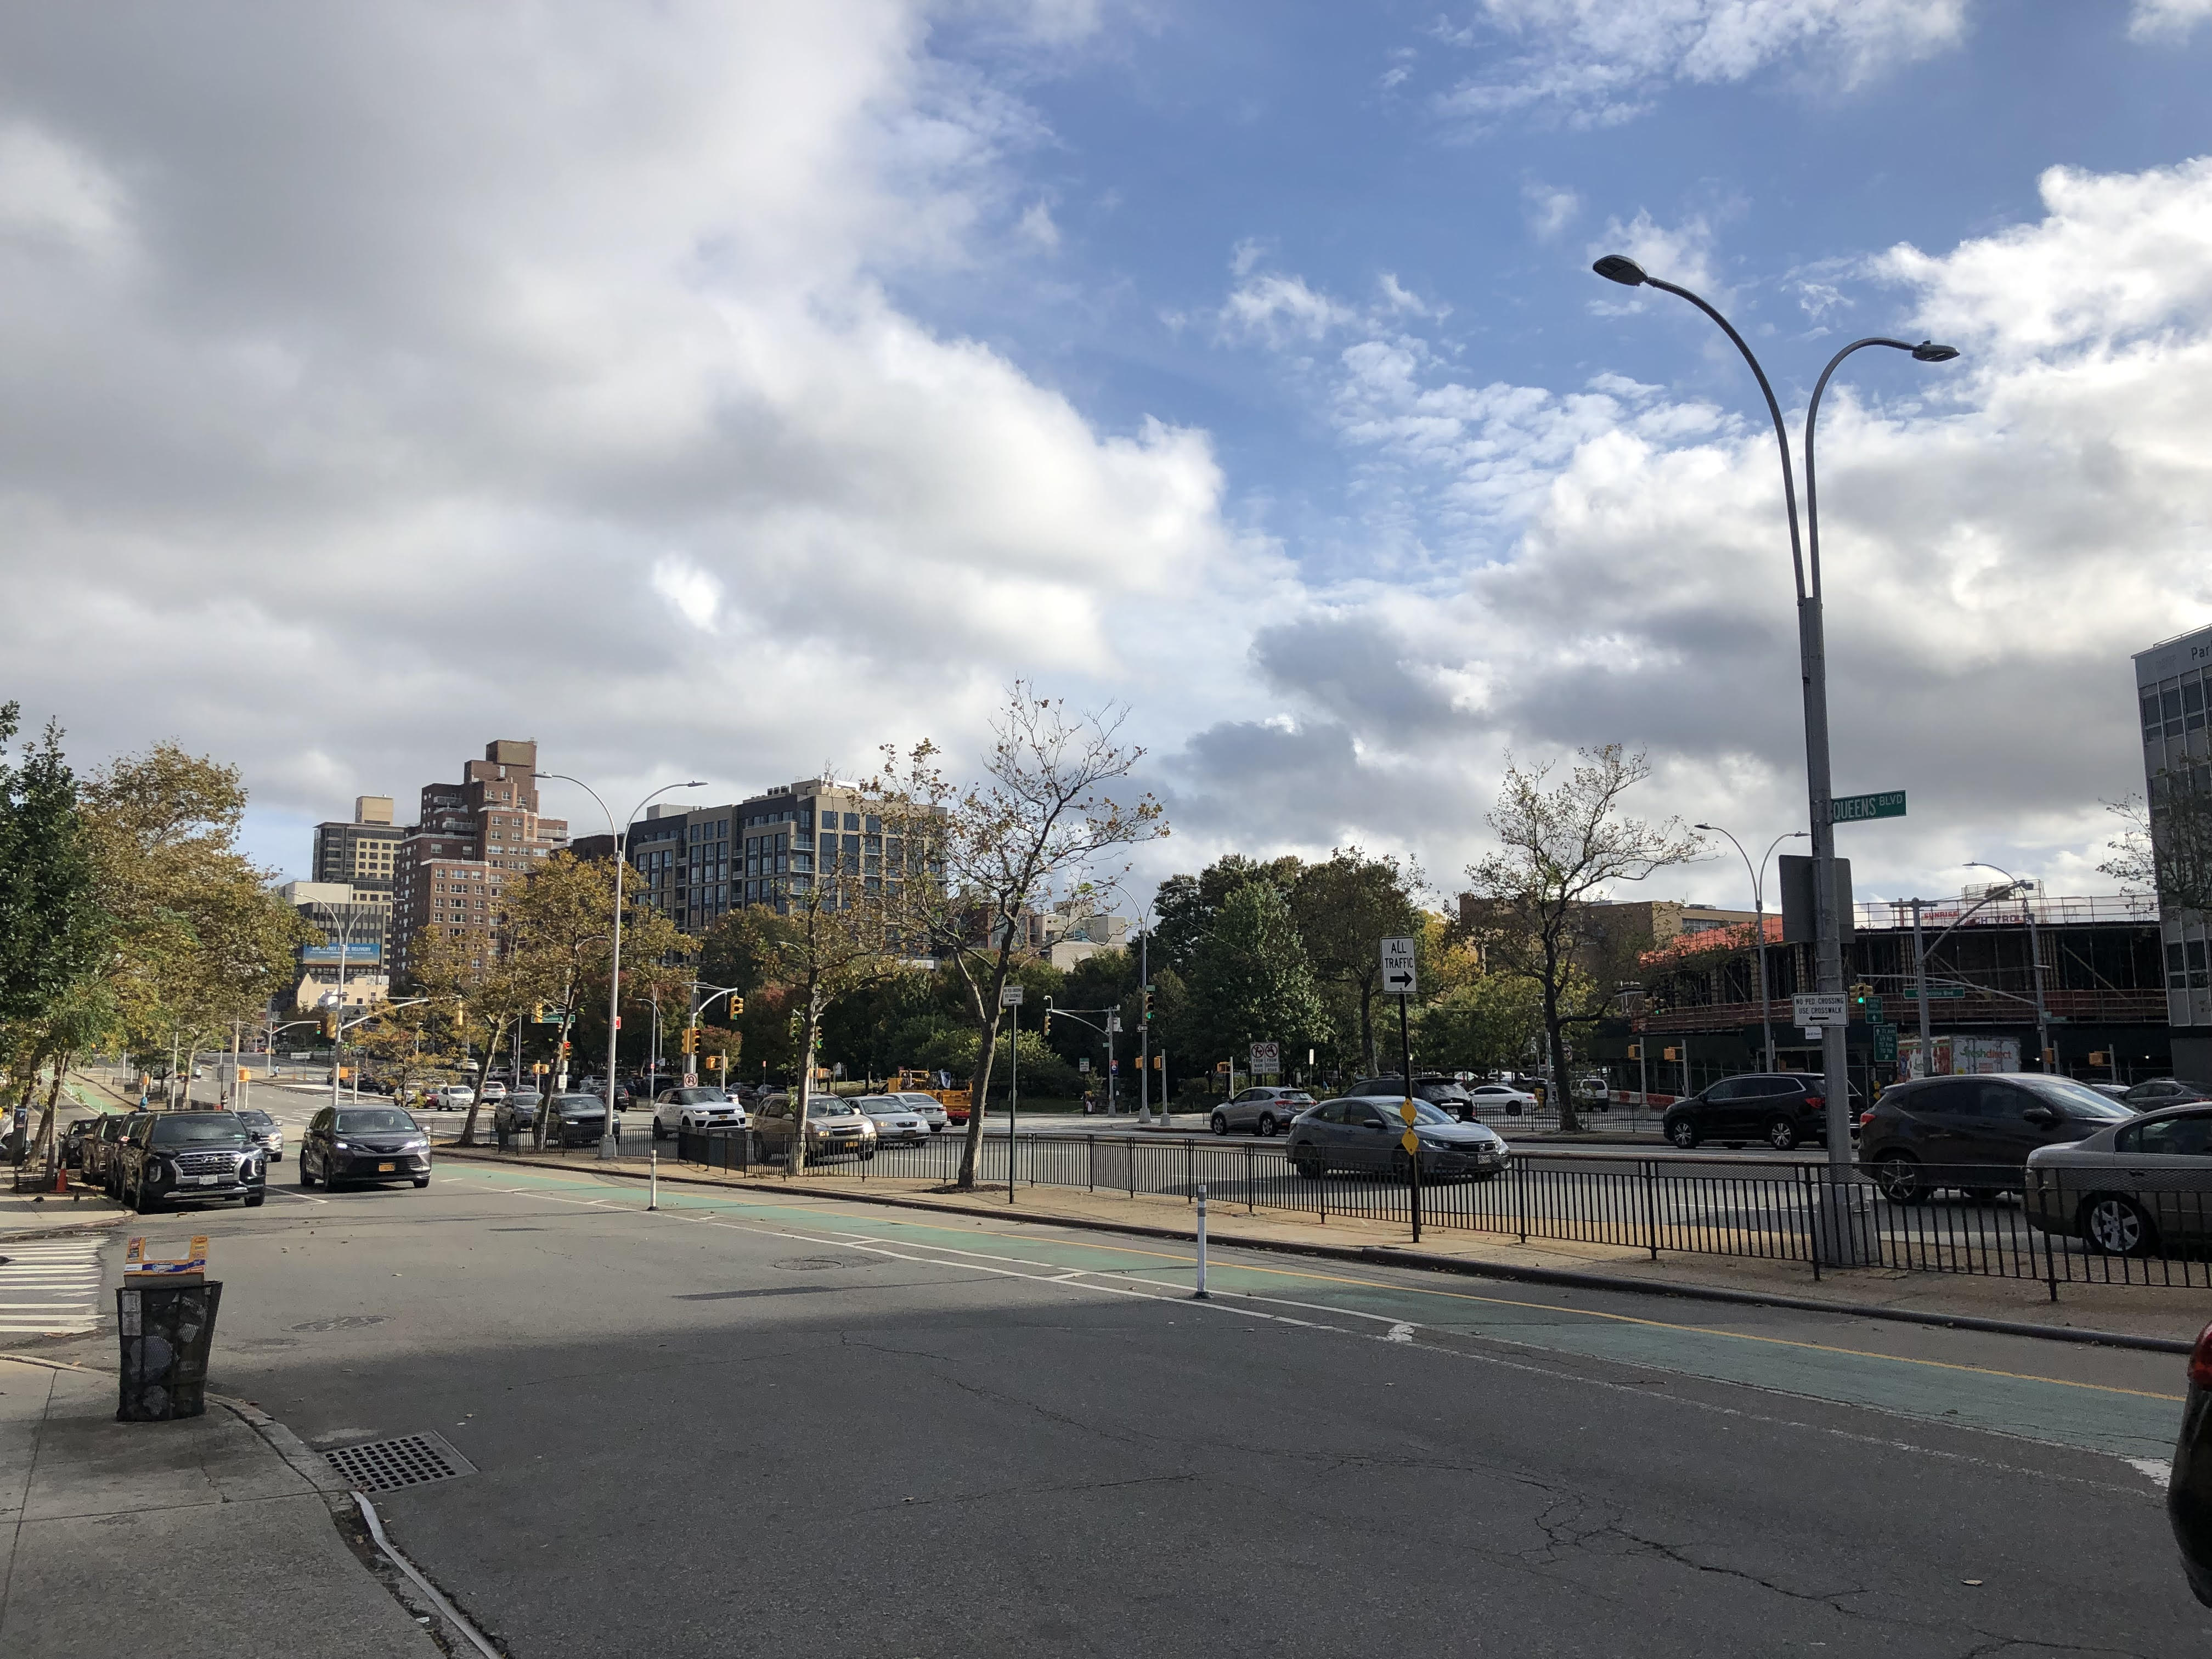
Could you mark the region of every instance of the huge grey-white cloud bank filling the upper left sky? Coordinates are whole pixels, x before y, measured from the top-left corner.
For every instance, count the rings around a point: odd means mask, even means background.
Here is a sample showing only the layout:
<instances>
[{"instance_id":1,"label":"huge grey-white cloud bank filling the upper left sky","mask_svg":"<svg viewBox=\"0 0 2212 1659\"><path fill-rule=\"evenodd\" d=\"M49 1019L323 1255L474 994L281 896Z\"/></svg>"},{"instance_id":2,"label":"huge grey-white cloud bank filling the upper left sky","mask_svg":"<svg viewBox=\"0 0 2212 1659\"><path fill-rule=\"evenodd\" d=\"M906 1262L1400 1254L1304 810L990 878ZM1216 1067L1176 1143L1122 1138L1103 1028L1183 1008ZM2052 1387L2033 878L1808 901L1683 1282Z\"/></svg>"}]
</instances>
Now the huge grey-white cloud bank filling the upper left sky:
<instances>
[{"instance_id":1,"label":"huge grey-white cloud bank filling the upper left sky","mask_svg":"<svg viewBox=\"0 0 2212 1659\"><path fill-rule=\"evenodd\" d=\"M1206 434L889 296L1051 241L1035 113L918 0L131 31L0 24L9 695L80 750L173 732L305 821L495 734L745 790L1267 613Z\"/></svg>"}]
</instances>

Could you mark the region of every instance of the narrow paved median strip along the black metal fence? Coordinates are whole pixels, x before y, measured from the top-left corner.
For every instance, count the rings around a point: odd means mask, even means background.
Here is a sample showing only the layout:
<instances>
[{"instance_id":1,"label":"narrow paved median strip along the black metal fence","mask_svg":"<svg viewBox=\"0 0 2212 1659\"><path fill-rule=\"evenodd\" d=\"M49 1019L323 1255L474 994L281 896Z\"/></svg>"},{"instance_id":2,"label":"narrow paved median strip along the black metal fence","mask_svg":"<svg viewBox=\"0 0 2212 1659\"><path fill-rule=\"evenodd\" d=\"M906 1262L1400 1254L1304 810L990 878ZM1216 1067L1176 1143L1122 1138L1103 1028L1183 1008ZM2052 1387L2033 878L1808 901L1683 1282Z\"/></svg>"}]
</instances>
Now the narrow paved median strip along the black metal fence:
<instances>
[{"instance_id":1,"label":"narrow paved median strip along the black metal fence","mask_svg":"<svg viewBox=\"0 0 2212 1659\"><path fill-rule=\"evenodd\" d=\"M471 1159L484 1164L520 1164L566 1168L571 1175L624 1175L644 1177L646 1159L624 1157L613 1161L557 1157L500 1155L489 1148L456 1148L440 1144L442 1159ZM1006 1188L995 1192L942 1192L927 1181L856 1177L803 1177L785 1181L781 1175L730 1175L701 1170L697 1166L661 1161L664 1188L739 1188L779 1197L841 1199L858 1203L898 1203L907 1208L947 1210L964 1217L989 1217L993 1221L1053 1221L1071 1228L1110 1228L1164 1232L1188 1239L1194 1234L1197 1217L1188 1199L1155 1197L1139 1192L1082 1192L1075 1188L1024 1186L1015 1201L1006 1203ZM1398 1221L1360 1221L1356 1217L1332 1214L1327 1221L1290 1214L1281 1210L1259 1210L1245 1214L1243 1206L1217 1199L1208 1212L1206 1237L1214 1245L1250 1245L1261 1250L1305 1250L1327 1254L1376 1252L1374 1261L1396 1265L1425 1265L1413 1259L1411 1232ZM2051 1301L2039 1279L1984 1279L1975 1274L1907 1272L1900 1267L1829 1267L1818 1281L1803 1261L1759 1261L1747 1256L1692 1256L1661 1254L1659 1261L1637 1245L1531 1241L1517 1243L1493 1232L1471 1232L1464 1228L1425 1228L1418 1245L1420 1259L1460 1270L1493 1272L1511 1279L1515 1270L1601 1274L1626 1290L1721 1290L1750 1292L1756 1296L1790 1296L1818 1303L1847 1303L1860 1310L1893 1310L1913 1316L1936 1318L1995 1318L2022 1325L2057 1329L2121 1332L2128 1336L2157 1336L2168 1340L2194 1340L2212 1316L2203 1290L2166 1290L2130 1285L2059 1285L2057 1303ZM1506 1294L1504 1290L1500 1294ZM1723 1314L1714 1314L1723 1318Z\"/></svg>"}]
</instances>

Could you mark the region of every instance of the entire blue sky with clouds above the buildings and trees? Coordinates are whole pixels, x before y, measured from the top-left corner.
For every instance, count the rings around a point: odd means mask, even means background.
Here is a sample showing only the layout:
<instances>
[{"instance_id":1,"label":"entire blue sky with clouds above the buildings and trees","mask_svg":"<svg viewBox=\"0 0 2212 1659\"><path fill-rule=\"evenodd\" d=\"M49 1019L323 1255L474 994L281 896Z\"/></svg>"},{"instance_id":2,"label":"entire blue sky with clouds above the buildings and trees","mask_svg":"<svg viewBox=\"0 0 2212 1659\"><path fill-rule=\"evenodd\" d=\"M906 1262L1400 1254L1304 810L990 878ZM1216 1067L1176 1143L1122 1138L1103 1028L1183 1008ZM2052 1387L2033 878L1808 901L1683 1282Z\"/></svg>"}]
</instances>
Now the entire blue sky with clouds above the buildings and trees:
<instances>
[{"instance_id":1,"label":"entire blue sky with clouds above the buildings and trees","mask_svg":"<svg viewBox=\"0 0 2212 1659\"><path fill-rule=\"evenodd\" d=\"M2212 622L2212 0L0 9L0 699L307 867L495 737L619 812L1115 708L1172 836L1489 845L1509 757L1860 898L2108 891ZM546 810L602 827L568 785ZM1745 902L1725 843L1632 896Z\"/></svg>"}]
</instances>

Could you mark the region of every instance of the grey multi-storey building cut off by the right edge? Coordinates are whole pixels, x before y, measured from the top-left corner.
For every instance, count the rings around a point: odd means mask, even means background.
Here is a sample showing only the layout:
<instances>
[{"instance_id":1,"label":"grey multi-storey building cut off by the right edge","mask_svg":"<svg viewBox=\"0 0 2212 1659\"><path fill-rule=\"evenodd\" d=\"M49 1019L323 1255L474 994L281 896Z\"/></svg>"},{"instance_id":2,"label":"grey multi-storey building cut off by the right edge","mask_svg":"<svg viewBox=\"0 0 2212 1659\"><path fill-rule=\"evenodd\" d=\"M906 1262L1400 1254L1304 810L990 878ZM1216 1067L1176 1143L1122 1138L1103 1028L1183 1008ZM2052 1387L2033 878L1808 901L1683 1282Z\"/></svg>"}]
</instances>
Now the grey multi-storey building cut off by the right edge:
<instances>
[{"instance_id":1,"label":"grey multi-storey building cut off by the right edge","mask_svg":"<svg viewBox=\"0 0 2212 1659\"><path fill-rule=\"evenodd\" d=\"M2185 633L2135 655L2135 697L2143 721L2143 801L2152 836L2159 807L2179 792L2212 790L2212 628ZM2212 1077L2212 918L2159 905L2166 947L2166 1022L2177 1077Z\"/></svg>"}]
</instances>

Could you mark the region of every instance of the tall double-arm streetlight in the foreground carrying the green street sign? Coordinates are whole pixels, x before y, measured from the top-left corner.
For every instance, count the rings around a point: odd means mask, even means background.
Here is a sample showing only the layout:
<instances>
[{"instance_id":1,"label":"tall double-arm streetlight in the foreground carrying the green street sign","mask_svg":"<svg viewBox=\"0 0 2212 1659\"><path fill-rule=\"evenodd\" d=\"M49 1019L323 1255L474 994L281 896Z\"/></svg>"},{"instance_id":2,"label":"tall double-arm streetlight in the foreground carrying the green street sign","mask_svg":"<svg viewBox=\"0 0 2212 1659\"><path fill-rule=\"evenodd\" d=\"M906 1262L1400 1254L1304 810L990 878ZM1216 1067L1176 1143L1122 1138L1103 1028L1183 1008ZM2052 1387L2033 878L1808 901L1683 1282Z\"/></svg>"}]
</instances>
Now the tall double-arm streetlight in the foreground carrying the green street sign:
<instances>
[{"instance_id":1,"label":"tall double-arm streetlight in the foreground carrying the green street sign","mask_svg":"<svg viewBox=\"0 0 2212 1659\"><path fill-rule=\"evenodd\" d=\"M1736 332L1734 323L1721 316L1721 312L1717 312L1701 296L1692 294L1688 288L1650 276L1626 254L1606 254L1595 261L1590 270L1606 281L1615 281L1626 288L1657 288L1697 305L1697 310L1710 316L1743 354L1752 376L1759 380L1761 396L1767 400L1767 414L1774 420L1774 442L1781 447L1783 458L1783 507L1790 520L1790 566L1796 573L1798 595L1798 670L1805 686L1805 794L1807 805L1812 807L1814 984L1827 995L1843 995L1843 929L1840 918L1836 916L1836 825L1829 805L1827 644L1820 622L1820 509L1814 484L1814 425L1820 418L1820 394L1827 392L1829 376L1836 374L1836 365L1851 356L1851 352L1860 352L1869 345L1887 345L1898 352L1909 352L1916 363L1949 363L1958 356L1958 349L1951 345L1936 345L1933 341L1920 341L1920 345L1913 345L1909 341L1869 336L1865 341L1851 341L1827 361L1805 411L1807 538L1801 542L1796 482L1790 471L1790 429L1783 425L1783 407L1774 398L1767 372L1759 365L1759 358ZM1851 1164L1851 1086L1849 1057L1845 1051L1847 1033L1845 1026L1829 1024L1823 1029L1820 1037L1820 1060L1823 1071L1827 1073L1827 1161L1834 1170L1834 1179L1840 1181ZM1856 1261L1863 1252L1856 1232L1851 1237L1834 1232L1829 1243L1836 1248L1838 1261Z\"/></svg>"}]
</instances>

